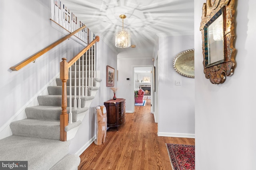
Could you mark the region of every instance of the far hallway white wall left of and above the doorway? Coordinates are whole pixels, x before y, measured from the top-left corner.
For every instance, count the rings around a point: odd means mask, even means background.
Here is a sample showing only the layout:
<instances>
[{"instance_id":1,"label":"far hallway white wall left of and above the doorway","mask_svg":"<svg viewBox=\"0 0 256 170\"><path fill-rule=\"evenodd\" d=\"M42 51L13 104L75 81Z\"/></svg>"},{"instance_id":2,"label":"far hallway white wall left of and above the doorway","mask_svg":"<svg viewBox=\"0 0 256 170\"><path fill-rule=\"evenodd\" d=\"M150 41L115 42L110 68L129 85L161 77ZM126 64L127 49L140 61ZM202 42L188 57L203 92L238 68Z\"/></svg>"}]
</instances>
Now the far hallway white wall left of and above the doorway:
<instances>
[{"instance_id":1,"label":"far hallway white wall left of and above the doorway","mask_svg":"<svg viewBox=\"0 0 256 170\"><path fill-rule=\"evenodd\" d=\"M124 58L117 60L118 68L118 91L116 93L117 98L126 99L126 111L129 113L134 112L134 79L132 77L132 66L154 65L152 58ZM130 80L126 80L130 78ZM128 84L131 84L129 86Z\"/></svg>"}]
</instances>

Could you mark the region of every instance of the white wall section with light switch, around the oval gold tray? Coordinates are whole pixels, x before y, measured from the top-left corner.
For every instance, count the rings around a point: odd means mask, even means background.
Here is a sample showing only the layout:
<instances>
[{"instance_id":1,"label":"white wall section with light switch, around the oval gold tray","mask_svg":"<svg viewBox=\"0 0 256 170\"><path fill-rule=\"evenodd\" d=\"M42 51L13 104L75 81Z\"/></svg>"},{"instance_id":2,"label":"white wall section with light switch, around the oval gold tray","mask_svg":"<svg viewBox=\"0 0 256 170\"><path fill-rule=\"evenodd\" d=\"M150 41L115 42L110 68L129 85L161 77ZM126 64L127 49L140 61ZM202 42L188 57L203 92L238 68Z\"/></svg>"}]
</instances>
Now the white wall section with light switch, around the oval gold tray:
<instances>
[{"instance_id":1,"label":"white wall section with light switch, around the oval gold tray","mask_svg":"<svg viewBox=\"0 0 256 170\"><path fill-rule=\"evenodd\" d=\"M194 48L194 35L159 37L158 43L158 135L194 137L194 78L182 76L173 68L176 55ZM181 86L176 86L175 80L181 80Z\"/></svg>"}]
</instances>

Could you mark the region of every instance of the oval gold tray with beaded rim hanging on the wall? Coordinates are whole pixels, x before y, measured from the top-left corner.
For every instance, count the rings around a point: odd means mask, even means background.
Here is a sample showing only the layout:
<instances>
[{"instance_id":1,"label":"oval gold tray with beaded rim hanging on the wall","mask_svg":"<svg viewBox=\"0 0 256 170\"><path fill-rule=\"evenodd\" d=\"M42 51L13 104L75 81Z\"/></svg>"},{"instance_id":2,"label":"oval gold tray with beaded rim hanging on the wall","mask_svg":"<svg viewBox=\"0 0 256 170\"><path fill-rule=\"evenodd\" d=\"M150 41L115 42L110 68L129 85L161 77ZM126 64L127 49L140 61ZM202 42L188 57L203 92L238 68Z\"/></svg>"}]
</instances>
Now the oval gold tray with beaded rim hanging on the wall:
<instances>
[{"instance_id":1,"label":"oval gold tray with beaded rim hanging on the wall","mask_svg":"<svg viewBox=\"0 0 256 170\"><path fill-rule=\"evenodd\" d=\"M173 67L182 76L195 78L194 74L194 49L183 51L173 60Z\"/></svg>"}]
</instances>

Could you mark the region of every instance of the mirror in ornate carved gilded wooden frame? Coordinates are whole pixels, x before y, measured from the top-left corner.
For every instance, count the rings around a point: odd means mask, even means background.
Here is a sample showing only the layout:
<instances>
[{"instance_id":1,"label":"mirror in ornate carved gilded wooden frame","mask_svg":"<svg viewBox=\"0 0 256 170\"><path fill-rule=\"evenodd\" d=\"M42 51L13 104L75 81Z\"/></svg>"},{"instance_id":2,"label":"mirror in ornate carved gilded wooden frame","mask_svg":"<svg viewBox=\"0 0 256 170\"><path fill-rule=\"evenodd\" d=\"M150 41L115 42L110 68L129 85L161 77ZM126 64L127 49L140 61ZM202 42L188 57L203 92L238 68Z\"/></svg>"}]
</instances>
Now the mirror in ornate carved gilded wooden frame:
<instances>
[{"instance_id":1,"label":"mirror in ornate carved gilded wooden frame","mask_svg":"<svg viewBox=\"0 0 256 170\"><path fill-rule=\"evenodd\" d=\"M202 8L204 74L212 84L224 83L236 67L234 4L235 0L206 0Z\"/></svg>"}]
</instances>

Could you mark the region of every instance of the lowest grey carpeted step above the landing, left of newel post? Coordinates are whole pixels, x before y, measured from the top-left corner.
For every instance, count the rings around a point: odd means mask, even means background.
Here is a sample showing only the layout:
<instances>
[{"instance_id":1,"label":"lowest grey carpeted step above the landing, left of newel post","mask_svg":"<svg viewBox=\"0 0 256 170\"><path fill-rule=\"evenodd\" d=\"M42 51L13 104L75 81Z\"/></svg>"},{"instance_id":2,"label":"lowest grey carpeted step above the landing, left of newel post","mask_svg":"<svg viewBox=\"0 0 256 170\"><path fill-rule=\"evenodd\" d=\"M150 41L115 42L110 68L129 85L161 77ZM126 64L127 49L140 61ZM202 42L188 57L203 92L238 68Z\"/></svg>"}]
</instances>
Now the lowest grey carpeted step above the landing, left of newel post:
<instances>
[{"instance_id":1,"label":"lowest grey carpeted step above the landing, left of newel post","mask_svg":"<svg viewBox=\"0 0 256 170\"><path fill-rule=\"evenodd\" d=\"M60 139L60 121L41 119L22 119L10 123L12 135Z\"/></svg>"}]
</instances>

